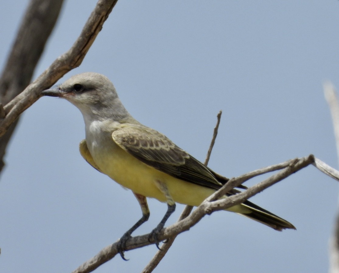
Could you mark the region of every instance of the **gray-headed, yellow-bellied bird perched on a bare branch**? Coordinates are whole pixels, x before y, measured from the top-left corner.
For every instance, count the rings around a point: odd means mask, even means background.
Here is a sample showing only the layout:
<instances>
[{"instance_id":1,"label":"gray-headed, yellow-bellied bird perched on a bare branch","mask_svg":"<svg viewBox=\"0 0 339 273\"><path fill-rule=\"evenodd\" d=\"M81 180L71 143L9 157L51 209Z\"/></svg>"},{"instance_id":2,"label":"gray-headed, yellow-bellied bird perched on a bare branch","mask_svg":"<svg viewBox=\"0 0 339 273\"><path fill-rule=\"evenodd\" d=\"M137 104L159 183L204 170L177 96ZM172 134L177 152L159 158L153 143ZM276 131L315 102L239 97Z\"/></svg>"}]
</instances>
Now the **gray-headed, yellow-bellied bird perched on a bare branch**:
<instances>
[{"instance_id":1,"label":"gray-headed, yellow-bellied bird perched on a bare branch","mask_svg":"<svg viewBox=\"0 0 339 273\"><path fill-rule=\"evenodd\" d=\"M125 188L138 200L142 217L119 239L124 251L131 234L149 218L147 198L167 203L167 211L150 233L159 248L158 234L175 211L176 203L198 206L229 179L217 174L162 133L138 122L121 103L113 83L95 72L77 74L41 96L64 98L82 113L85 139L81 156L95 169ZM240 188L246 188L240 185ZM239 193L233 189L223 198ZM226 209L265 224L275 230L296 229L281 217L246 200Z\"/></svg>"}]
</instances>

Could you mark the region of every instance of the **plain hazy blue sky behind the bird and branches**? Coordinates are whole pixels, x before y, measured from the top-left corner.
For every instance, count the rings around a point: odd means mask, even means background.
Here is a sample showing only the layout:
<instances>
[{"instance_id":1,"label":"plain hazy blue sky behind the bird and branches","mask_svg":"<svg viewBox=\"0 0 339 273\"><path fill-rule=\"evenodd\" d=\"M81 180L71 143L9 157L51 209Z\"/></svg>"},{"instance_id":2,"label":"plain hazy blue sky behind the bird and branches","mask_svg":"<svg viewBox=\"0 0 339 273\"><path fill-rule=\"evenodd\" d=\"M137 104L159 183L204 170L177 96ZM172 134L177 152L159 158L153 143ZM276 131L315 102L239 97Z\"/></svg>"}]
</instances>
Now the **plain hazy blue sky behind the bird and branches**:
<instances>
[{"instance_id":1,"label":"plain hazy blue sky behind the bird and branches","mask_svg":"<svg viewBox=\"0 0 339 273\"><path fill-rule=\"evenodd\" d=\"M27 2L1 4L1 67ZM94 6L65 2L34 78L71 47ZM60 82L106 75L137 120L201 161L222 109L209 166L227 177L310 153L337 167L322 84L339 88L338 11L335 0L120 0ZM43 97L22 115L0 180L0 272L71 272L141 216L130 191L81 158L83 138L80 112L61 99ZM251 199L296 231L218 212L179 235L155 272L324 272L337 200L337 182L307 167ZM148 202L151 217L134 235L166 211ZM140 272L156 251L126 252L129 261L95 272Z\"/></svg>"}]
</instances>

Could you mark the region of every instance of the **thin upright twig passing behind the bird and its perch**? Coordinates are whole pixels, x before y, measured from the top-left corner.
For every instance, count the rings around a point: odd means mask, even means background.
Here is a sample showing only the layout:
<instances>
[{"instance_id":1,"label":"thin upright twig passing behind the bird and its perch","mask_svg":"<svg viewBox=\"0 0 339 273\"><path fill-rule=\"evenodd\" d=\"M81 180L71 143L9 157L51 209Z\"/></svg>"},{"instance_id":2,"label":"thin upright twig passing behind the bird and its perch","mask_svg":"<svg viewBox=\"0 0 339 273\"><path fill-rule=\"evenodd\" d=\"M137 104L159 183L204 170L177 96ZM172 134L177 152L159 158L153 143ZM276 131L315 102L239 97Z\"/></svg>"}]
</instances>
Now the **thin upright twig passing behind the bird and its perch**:
<instances>
[{"instance_id":1,"label":"thin upright twig passing behind the bird and its perch","mask_svg":"<svg viewBox=\"0 0 339 273\"><path fill-rule=\"evenodd\" d=\"M212 149L213 149L215 140L217 138L221 114L222 114L222 111L220 110L219 113L217 114L217 124L216 124L216 126L213 130L213 137L212 137L212 140L211 140L210 147L208 148L206 159L205 159L205 162L204 162L205 166L207 166L208 161L210 160ZM190 215L192 209L193 209L193 206L189 206L189 205L185 206L183 212L181 213L181 215L178 219L178 222L181 221L182 219L186 218L188 215ZM174 235L173 237L168 238L166 243L163 243L161 245L160 250L157 251L157 253L148 262L147 266L142 270L141 273L150 273L158 266L159 262L162 260L162 258L167 253L168 249L172 246L176 237L177 237L177 235Z\"/></svg>"}]
</instances>

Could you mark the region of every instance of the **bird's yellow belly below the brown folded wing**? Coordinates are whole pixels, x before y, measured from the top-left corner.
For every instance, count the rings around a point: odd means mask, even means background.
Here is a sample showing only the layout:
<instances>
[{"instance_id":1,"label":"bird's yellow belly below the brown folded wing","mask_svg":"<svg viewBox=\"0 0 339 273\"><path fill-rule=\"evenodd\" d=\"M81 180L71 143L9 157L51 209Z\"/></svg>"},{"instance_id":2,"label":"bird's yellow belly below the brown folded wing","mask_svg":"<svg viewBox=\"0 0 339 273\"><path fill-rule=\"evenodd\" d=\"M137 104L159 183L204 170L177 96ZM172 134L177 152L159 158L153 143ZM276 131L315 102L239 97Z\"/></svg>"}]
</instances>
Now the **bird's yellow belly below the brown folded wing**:
<instances>
[{"instance_id":1,"label":"bird's yellow belly below the brown folded wing","mask_svg":"<svg viewBox=\"0 0 339 273\"><path fill-rule=\"evenodd\" d=\"M156 185L156 181L160 181L166 185L175 202L198 206L215 192L214 189L174 178L148 166L116 144L104 147L105 150L93 150L92 157L95 163L104 174L134 193L166 202L166 197ZM248 213L248 209L243 205L236 205L227 210Z\"/></svg>"}]
</instances>

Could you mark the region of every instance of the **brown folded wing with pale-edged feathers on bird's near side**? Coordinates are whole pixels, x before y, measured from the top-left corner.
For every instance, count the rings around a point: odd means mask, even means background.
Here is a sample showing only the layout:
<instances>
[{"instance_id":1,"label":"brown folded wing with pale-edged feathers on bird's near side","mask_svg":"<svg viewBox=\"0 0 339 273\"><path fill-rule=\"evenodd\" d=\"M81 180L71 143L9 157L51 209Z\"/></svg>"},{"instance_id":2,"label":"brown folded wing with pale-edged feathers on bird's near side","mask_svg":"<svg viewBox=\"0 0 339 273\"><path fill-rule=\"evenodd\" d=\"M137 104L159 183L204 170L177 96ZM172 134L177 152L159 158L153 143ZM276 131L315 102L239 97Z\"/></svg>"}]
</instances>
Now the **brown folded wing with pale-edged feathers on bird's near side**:
<instances>
[{"instance_id":1,"label":"brown folded wing with pale-edged feathers on bird's near side","mask_svg":"<svg viewBox=\"0 0 339 273\"><path fill-rule=\"evenodd\" d=\"M219 182L214 172L166 136L140 124L121 124L112 133L114 142L140 161L175 178L219 189L228 181Z\"/></svg>"}]
</instances>

